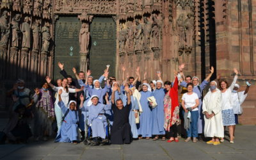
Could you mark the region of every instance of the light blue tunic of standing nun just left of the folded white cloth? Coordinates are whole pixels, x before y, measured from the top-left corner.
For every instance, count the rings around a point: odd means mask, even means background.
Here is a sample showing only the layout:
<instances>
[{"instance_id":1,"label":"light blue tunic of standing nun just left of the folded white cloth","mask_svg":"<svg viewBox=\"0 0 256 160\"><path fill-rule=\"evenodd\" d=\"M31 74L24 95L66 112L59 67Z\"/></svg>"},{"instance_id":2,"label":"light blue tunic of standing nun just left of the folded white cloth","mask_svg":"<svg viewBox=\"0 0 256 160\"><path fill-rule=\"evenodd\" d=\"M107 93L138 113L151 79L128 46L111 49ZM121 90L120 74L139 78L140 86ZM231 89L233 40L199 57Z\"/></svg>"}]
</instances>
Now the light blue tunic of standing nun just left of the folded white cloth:
<instances>
[{"instance_id":1,"label":"light blue tunic of standing nun just left of the folded white cloth","mask_svg":"<svg viewBox=\"0 0 256 160\"><path fill-rule=\"evenodd\" d=\"M141 91L140 104L143 112L140 115L140 128L139 135L142 137L152 136L152 109L148 104L148 97L152 95L152 92Z\"/></svg>"}]
</instances>

